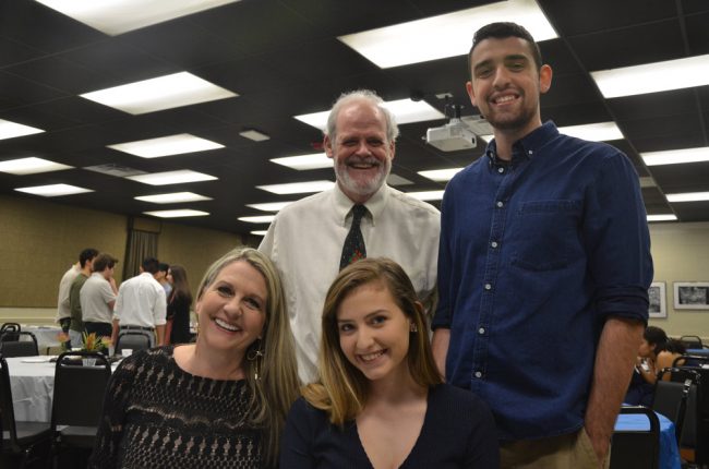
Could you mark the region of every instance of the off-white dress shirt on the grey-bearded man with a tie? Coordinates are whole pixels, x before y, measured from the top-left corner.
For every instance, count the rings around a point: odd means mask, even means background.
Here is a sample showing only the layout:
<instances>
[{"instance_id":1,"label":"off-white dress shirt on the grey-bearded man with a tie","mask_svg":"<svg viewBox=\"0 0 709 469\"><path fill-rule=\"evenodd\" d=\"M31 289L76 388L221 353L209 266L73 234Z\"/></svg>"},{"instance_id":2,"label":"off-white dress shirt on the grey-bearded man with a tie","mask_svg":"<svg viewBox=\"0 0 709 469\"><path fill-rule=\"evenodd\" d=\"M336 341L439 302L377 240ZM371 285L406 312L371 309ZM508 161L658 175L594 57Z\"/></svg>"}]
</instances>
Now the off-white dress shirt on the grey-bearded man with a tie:
<instances>
[{"instance_id":1,"label":"off-white dress shirt on the grey-bearded man with a tie","mask_svg":"<svg viewBox=\"0 0 709 469\"><path fill-rule=\"evenodd\" d=\"M276 215L259 246L283 278L298 372L304 383L317 376L323 304L339 272L353 205L338 185L295 202ZM441 214L386 184L364 205L369 214L360 229L366 256L385 256L400 264L424 301L436 286Z\"/></svg>"}]
</instances>

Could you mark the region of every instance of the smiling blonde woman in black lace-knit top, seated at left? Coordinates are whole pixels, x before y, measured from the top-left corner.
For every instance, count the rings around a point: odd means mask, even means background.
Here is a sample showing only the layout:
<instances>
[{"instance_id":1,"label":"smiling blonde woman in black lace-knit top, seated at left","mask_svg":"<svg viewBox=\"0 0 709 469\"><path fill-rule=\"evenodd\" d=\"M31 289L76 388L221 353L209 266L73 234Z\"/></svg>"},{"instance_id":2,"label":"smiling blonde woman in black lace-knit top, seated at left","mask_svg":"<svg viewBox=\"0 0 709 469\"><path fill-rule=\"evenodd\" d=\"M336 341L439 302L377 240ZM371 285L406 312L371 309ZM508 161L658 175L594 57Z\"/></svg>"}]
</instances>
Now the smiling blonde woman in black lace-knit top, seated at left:
<instances>
[{"instance_id":1,"label":"smiling blonde woman in black lace-knit top, seated at left","mask_svg":"<svg viewBox=\"0 0 709 469\"><path fill-rule=\"evenodd\" d=\"M109 384L91 468L262 468L278 461L299 396L283 287L238 248L197 289L196 344L125 358Z\"/></svg>"}]
</instances>

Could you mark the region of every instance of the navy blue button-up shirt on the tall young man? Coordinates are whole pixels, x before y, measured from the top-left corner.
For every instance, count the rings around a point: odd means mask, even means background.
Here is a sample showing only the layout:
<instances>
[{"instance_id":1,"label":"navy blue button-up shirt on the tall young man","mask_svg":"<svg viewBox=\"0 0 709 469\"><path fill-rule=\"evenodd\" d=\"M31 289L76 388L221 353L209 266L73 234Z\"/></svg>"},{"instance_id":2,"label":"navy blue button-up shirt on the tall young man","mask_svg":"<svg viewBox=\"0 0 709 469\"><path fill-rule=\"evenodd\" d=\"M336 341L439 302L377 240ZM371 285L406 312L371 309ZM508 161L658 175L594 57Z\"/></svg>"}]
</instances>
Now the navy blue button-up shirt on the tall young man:
<instances>
[{"instance_id":1,"label":"navy blue button-up shirt on the tall young man","mask_svg":"<svg viewBox=\"0 0 709 469\"><path fill-rule=\"evenodd\" d=\"M633 165L546 122L508 165L493 140L441 212L433 327L450 328L447 380L490 405L501 440L576 431L604 320L647 323L652 258Z\"/></svg>"}]
</instances>

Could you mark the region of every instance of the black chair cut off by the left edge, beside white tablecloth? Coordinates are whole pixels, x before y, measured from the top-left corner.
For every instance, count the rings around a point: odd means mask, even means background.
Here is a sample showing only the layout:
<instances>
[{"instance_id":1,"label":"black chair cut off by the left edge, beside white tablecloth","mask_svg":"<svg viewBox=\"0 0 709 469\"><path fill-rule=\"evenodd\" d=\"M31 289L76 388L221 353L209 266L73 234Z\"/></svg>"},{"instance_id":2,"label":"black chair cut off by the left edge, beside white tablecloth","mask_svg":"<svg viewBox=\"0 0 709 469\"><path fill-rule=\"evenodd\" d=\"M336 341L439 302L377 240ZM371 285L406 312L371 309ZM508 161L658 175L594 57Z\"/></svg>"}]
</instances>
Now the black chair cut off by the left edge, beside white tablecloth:
<instances>
[{"instance_id":1,"label":"black chair cut off by the left edge, beside white tablecloth","mask_svg":"<svg viewBox=\"0 0 709 469\"><path fill-rule=\"evenodd\" d=\"M8 362L0 356L0 423L2 430L3 456L21 458L19 468L24 468L34 460L41 459L38 450L43 444L49 444L49 424L43 422L17 422L12 402L10 372ZM48 448L49 446L45 446Z\"/></svg>"}]
</instances>

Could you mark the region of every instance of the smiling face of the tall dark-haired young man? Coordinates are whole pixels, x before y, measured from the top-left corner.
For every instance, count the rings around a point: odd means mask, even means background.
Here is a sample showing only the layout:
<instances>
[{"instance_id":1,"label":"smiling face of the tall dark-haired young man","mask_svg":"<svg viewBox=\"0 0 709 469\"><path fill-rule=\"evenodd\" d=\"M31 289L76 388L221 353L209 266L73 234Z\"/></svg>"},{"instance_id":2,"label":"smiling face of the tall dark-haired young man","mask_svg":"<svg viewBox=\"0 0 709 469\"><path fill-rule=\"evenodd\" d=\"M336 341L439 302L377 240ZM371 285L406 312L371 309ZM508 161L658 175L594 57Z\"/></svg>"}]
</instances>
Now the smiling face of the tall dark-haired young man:
<instances>
[{"instance_id":1,"label":"smiling face of the tall dark-haired young man","mask_svg":"<svg viewBox=\"0 0 709 469\"><path fill-rule=\"evenodd\" d=\"M472 81L467 83L473 106L497 132L516 139L541 125L539 96L551 86L552 71L538 71L529 44L519 37L486 38L470 57Z\"/></svg>"}]
</instances>

